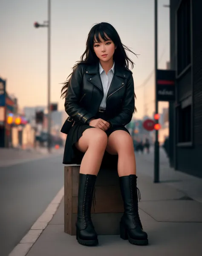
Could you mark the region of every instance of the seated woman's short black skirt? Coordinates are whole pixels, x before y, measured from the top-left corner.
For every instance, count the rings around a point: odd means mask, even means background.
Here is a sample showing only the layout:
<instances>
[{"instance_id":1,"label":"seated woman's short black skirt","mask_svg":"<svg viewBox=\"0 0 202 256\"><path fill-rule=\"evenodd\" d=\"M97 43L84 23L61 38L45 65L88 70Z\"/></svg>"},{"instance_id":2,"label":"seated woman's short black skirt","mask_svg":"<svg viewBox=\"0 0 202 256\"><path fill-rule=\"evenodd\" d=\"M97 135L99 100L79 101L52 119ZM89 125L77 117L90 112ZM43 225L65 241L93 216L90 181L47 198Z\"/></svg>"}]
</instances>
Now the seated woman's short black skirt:
<instances>
[{"instance_id":1,"label":"seated woman's short black skirt","mask_svg":"<svg viewBox=\"0 0 202 256\"><path fill-rule=\"evenodd\" d=\"M107 116L103 112L98 112L96 118L101 118L107 121ZM79 151L75 147L75 143L81 138L83 132L86 129L93 128L90 125L83 125L75 122L75 125L71 127L67 137L66 143L64 148L64 155L63 155L63 164L81 164L81 160L84 157L83 152ZM113 131L123 130L129 133L127 128L120 126L120 127L112 127L108 129L106 132L107 136L109 137ZM130 133L129 133L130 134ZM118 163L118 155L111 155L107 151L104 153L104 157L101 163L101 168L113 168L117 169Z\"/></svg>"}]
</instances>

